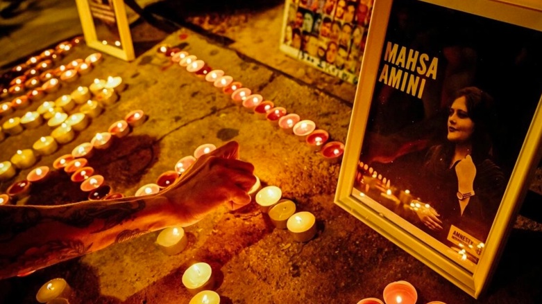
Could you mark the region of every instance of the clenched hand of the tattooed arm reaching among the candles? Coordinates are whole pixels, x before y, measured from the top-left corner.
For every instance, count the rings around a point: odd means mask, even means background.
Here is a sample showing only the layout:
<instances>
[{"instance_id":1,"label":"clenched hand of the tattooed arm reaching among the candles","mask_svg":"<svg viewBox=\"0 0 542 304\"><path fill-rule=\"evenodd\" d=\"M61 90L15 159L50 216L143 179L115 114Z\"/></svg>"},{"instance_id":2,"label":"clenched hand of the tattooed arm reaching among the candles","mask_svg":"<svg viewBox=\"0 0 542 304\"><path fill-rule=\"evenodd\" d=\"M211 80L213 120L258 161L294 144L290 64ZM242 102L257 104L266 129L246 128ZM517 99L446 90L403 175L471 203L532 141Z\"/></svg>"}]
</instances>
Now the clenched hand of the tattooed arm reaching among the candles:
<instances>
[{"instance_id":1,"label":"clenched hand of the tattooed arm reaching among the candles","mask_svg":"<svg viewBox=\"0 0 542 304\"><path fill-rule=\"evenodd\" d=\"M247 192L256 182L254 166L238 157L239 143L230 141L197 159L164 192L181 223L194 224L224 203L235 210L251 202Z\"/></svg>"}]
</instances>

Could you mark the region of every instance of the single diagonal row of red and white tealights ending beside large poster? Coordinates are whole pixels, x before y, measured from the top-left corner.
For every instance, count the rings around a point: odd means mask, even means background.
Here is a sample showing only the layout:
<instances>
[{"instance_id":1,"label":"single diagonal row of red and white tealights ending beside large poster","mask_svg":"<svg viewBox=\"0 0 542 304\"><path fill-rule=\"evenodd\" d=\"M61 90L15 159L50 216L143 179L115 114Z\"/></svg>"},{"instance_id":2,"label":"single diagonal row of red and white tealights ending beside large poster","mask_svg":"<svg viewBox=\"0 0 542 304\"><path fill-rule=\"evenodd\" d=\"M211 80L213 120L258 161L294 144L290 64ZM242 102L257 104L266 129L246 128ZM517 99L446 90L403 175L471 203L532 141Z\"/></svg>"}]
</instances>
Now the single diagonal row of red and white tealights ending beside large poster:
<instances>
[{"instance_id":1,"label":"single diagonal row of red and white tealights ending beside large poster","mask_svg":"<svg viewBox=\"0 0 542 304\"><path fill-rule=\"evenodd\" d=\"M212 83L214 87L230 95L236 105L253 112L257 118L266 119L282 131L296 135L300 141L312 147L312 150L319 152L325 160L332 163L340 161L344 153L344 143L328 142L329 133L324 129L316 129L314 121L301 119L298 114L289 114L284 107L277 107L271 100L264 100L262 95L243 87L241 82L234 81L232 76L225 75L224 71L211 69L203 60L198 60L196 55L189 55L168 45L160 45L157 52L171 57L171 61L185 67L198 78Z\"/></svg>"}]
</instances>

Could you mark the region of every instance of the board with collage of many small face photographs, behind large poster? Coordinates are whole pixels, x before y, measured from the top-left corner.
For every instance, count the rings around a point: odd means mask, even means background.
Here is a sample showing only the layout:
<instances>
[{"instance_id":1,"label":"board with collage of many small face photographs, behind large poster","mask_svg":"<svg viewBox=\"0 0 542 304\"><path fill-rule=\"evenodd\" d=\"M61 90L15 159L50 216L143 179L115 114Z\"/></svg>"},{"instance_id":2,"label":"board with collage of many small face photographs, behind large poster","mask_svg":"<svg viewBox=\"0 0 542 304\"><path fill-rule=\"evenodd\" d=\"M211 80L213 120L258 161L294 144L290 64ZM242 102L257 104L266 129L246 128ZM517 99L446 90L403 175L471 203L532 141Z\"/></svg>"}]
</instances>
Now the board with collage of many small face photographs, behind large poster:
<instances>
[{"instance_id":1,"label":"board with collage of many small face photographs, behind large poster","mask_svg":"<svg viewBox=\"0 0 542 304\"><path fill-rule=\"evenodd\" d=\"M373 0L291 0L283 44L305 61L357 77L372 7Z\"/></svg>"}]
</instances>

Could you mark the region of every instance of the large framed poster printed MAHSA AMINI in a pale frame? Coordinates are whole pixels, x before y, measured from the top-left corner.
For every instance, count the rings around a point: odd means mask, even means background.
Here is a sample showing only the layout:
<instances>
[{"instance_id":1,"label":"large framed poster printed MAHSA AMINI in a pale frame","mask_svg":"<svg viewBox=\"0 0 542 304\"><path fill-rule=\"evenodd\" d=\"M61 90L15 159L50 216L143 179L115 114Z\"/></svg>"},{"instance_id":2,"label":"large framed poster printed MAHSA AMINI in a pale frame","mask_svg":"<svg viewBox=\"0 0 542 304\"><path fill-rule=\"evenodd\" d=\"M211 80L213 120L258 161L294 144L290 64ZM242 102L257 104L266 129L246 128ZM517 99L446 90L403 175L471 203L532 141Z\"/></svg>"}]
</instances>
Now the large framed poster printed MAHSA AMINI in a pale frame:
<instances>
[{"instance_id":1,"label":"large framed poster printed MAHSA AMINI in a pale frame","mask_svg":"<svg viewBox=\"0 0 542 304\"><path fill-rule=\"evenodd\" d=\"M335 196L475 298L541 157L542 5L511 2L375 1Z\"/></svg>"}]
</instances>

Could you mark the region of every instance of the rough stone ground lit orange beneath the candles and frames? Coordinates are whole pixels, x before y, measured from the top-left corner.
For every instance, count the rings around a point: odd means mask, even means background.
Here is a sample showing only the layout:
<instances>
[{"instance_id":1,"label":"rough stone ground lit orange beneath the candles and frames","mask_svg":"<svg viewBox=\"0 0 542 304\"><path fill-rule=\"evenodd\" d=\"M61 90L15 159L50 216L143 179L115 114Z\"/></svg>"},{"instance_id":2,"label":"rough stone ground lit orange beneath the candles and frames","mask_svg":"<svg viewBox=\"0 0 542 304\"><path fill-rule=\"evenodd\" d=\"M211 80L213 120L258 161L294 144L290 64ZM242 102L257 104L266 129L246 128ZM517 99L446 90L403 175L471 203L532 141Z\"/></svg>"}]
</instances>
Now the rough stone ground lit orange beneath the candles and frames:
<instances>
[{"instance_id":1,"label":"rough stone ground lit orange beneath the candles and frames","mask_svg":"<svg viewBox=\"0 0 542 304\"><path fill-rule=\"evenodd\" d=\"M253 204L233 213L220 209L186 229L188 247L176 256L164 256L154 244L158 233L149 233L24 278L1 280L0 303L35 303L37 289L56 277L65 278L76 291L70 303L188 303L190 294L180 278L194 261L212 266L221 303L357 303L366 297L382 298L384 287L395 280L407 280L416 287L417 303L541 303L542 250L536 246L542 241L536 218L540 213L522 212L527 217L518 217L491 285L482 298L474 300L333 204L338 164L326 163L294 136L258 120L208 82L155 55L156 44L180 46L276 105L314 120L332 138L345 141L355 87L276 51L278 30L270 29L280 26L282 9L277 5L229 18L213 15L219 18L214 25L205 14L188 17L191 24L201 26L186 24L197 33L186 27L166 33L136 22L133 36L138 57L134 62L105 55L90 74L47 96L54 100L107 75L121 75L128 83L119 102L39 164L50 165L128 111L143 109L149 115L144 125L90 159L115 191L133 195L139 186L173 169L178 159L192 154L198 145L236 140L242 159L255 165L255 174L264 184L280 186L283 197L294 200L298 210L316 215L316 238L294 242L287 231L273 229L269 218ZM51 38L51 42L62 39ZM62 62L93 52L80 45ZM35 107L37 103L30 109ZM49 132L42 125L6 138L0 144L0 159L8 159L17 148L29 147ZM27 172L19 172L14 180ZM532 182L533 190L539 190L540 179ZM1 183L1 192L11 182ZM66 175L33 188L31 196L34 204L79 199L84 197Z\"/></svg>"}]
</instances>

